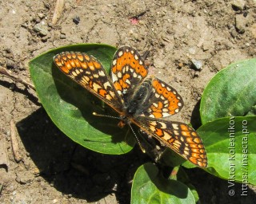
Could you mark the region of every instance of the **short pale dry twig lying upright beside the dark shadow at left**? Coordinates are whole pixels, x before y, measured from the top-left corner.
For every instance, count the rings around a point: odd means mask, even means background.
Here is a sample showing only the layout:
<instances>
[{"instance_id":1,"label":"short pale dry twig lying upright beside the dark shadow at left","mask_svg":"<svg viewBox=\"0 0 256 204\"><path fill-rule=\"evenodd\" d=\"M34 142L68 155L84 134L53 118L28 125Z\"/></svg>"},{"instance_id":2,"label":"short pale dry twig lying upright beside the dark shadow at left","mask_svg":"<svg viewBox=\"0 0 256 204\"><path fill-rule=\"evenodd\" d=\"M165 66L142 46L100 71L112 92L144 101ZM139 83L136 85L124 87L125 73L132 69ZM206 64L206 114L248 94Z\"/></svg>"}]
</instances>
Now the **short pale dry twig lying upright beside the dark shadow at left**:
<instances>
[{"instance_id":1,"label":"short pale dry twig lying upright beside the dark shadow at left","mask_svg":"<svg viewBox=\"0 0 256 204\"><path fill-rule=\"evenodd\" d=\"M19 163L22 160L22 156L19 154L17 129L15 127L15 123L13 119L10 120L10 140L11 140L11 146L13 149L14 159L17 163Z\"/></svg>"}]
</instances>

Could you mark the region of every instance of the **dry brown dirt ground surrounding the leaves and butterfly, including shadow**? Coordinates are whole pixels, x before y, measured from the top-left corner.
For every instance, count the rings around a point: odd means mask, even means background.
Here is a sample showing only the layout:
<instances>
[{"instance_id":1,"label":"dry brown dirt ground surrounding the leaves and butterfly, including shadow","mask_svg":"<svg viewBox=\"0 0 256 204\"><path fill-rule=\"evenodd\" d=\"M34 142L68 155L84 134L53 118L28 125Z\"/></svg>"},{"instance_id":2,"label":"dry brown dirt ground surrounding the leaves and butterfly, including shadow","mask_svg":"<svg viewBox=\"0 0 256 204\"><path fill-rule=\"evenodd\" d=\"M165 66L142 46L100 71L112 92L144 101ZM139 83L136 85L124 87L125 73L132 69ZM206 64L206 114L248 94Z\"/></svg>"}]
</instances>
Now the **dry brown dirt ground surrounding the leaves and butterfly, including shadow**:
<instances>
[{"instance_id":1,"label":"dry brown dirt ground surrounding the leaves and butterfly, including shadow","mask_svg":"<svg viewBox=\"0 0 256 204\"><path fill-rule=\"evenodd\" d=\"M178 90L185 107L176 120L198 125L198 101L210 78L231 62L256 57L256 2L66 0L53 25L55 1L0 1L0 65L31 82L28 62L48 49L77 43L150 50L154 75ZM80 21L78 21L80 18ZM197 70L191 61L201 61ZM21 161L11 147L18 129ZM1 203L130 203L134 171L147 160L138 148L100 155L72 142L50 121L36 92L0 76ZM256 203L227 194L227 182L187 171L201 203ZM238 192L240 185L236 184ZM253 187L252 187L253 189Z\"/></svg>"}]
</instances>

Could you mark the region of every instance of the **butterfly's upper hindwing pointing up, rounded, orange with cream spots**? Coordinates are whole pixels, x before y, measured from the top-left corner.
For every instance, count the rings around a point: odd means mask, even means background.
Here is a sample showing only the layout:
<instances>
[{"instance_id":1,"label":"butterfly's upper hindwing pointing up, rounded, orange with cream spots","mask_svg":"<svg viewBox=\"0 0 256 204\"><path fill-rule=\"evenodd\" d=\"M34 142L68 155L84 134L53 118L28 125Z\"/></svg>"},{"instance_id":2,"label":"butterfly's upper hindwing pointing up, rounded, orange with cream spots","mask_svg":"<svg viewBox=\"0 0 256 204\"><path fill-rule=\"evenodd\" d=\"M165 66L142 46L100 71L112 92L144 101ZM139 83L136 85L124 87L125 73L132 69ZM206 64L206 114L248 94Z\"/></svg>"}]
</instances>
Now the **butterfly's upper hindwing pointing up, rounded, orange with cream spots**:
<instances>
[{"instance_id":1,"label":"butterfly's upper hindwing pointing up, rounded, orange with cream spots","mask_svg":"<svg viewBox=\"0 0 256 204\"><path fill-rule=\"evenodd\" d=\"M121 97L140 84L147 74L148 69L135 49L123 46L114 54L111 77Z\"/></svg>"}]
</instances>

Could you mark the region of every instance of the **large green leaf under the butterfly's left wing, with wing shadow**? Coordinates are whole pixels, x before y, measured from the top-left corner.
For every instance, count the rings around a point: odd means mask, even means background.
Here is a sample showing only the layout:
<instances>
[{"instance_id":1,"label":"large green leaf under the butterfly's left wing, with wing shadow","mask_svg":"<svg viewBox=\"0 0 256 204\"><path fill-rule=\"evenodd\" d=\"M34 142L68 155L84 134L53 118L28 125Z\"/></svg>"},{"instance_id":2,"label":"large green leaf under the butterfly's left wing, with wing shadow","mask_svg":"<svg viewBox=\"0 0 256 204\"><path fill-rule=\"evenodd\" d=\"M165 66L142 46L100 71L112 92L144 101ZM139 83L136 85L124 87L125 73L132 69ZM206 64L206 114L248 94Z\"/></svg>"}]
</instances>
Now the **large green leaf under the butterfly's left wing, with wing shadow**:
<instances>
[{"instance_id":1,"label":"large green leaf under the butterfly's left wing, with wing shadow","mask_svg":"<svg viewBox=\"0 0 256 204\"><path fill-rule=\"evenodd\" d=\"M54 65L53 57L63 51L88 53L109 71L116 49L109 45L70 45L30 61L30 75L38 98L56 126L74 142L105 154L124 154L134 146L129 128L118 128L118 120L93 116L92 112L113 116L115 113L101 100L66 77Z\"/></svg>"}]
</instances>

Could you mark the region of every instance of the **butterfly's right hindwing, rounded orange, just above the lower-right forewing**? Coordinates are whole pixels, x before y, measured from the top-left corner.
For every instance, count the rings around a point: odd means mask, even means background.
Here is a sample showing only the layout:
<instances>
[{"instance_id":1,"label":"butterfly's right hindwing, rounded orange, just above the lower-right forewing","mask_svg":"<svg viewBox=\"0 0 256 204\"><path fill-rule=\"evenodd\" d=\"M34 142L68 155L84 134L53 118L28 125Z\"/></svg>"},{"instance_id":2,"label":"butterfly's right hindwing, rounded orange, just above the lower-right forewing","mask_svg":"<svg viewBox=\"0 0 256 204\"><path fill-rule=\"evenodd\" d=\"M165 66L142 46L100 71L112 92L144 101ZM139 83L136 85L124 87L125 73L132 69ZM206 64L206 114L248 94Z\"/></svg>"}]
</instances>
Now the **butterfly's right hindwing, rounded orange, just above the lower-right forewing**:
<instances>
[{"instance_id":1,"label":"butterfly's right hindwing, rounded orange, just above the lower-right forewing","mask_svg":"<svg viewBox=\"0 0 256 204\"><path fill-rule=\"evenodd\" d=\"M152 95L150 96L150 108L143 112L142 116L162 118L178 113L183 107L182 96L156 77L152 77Z\"/></svg>"}]
</instances>

